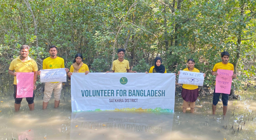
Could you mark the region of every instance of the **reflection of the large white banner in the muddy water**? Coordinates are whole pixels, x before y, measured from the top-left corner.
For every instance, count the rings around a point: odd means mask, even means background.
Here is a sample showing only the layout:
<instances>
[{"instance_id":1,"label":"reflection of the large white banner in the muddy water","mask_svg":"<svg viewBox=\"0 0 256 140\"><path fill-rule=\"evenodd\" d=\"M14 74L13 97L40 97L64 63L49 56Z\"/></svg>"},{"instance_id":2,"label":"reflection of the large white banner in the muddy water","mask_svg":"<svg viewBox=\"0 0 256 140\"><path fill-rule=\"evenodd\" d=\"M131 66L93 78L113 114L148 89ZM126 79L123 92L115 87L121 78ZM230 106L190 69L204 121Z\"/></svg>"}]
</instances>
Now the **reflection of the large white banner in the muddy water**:
<instances>
[{"instance_id":1,"label":"reflection of the large white banner in the muddy water","mask_svg":"<svg viewBox=\"0 0 256 140\"><path fill-rule=\"evenodd\" d=\"M170 139L173 113L164 112L75 112L70 139Z\"/></svg>"}]
</instances>

